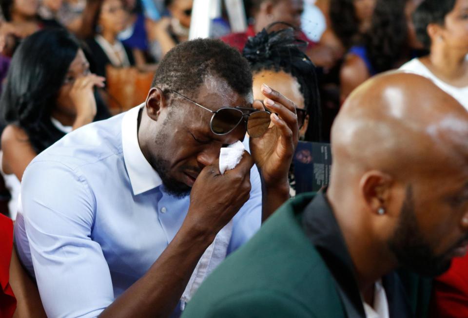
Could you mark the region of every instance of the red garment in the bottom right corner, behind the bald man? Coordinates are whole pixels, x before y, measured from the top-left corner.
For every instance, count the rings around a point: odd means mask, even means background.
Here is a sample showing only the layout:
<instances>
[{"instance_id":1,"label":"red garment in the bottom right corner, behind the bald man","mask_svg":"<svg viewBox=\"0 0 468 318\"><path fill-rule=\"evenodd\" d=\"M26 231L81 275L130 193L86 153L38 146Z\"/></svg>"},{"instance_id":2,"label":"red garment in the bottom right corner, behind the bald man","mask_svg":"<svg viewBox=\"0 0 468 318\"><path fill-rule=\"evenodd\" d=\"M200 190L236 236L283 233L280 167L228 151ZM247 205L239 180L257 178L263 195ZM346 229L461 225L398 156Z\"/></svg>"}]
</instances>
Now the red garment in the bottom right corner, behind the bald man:
<instances>
[{"instance_id":1,"label":"red garment in the bottom right corner, behind the bald man","mask_svg":"<svg viewBox=\"0 0 468 318\"><path fill-rule=\"evenodd\" d=\"M431 317L468 317L468 255L454 258L450 269L434 280Z\"/></svg>"}]
</instances>

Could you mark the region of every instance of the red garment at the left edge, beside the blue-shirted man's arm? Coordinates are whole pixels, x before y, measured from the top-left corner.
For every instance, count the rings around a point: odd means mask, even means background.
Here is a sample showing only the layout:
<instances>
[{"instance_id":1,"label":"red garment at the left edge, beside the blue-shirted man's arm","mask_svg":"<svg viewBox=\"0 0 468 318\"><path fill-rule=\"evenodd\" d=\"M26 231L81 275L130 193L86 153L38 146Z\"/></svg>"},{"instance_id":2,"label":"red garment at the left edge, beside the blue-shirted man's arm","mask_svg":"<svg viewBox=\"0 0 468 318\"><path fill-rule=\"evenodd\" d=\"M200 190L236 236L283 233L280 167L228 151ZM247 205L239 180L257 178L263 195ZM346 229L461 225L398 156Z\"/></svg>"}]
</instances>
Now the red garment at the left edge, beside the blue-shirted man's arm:
<instances>
[{"instance_id":1,"label":"red garment at the left edge, beside the blue-shirted man's arm","mask_svg":"<svg viewBox=\"0 0 468 318\"><path fill-rule=\"evenodd\" d=\"M10 287L10 261L13 248L13 222L0 214L0 318L11 318L16 299Z\"/></svg>"}]
</instances>

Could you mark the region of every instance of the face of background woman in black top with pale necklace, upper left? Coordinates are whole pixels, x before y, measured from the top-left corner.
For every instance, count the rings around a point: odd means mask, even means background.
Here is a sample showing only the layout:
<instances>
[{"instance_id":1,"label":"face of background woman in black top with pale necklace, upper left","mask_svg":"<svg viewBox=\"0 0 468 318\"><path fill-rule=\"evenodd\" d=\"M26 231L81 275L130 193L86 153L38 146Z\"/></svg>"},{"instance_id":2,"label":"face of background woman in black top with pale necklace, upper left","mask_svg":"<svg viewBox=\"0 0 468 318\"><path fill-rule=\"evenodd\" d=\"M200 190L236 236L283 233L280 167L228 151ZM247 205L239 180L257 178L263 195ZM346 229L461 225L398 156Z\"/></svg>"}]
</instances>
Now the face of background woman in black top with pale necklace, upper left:
<instances>
[{"instance_id":1,"label":"face of background woman in black top with pale necklace, upper left","mask_svg":"<svg viewBox=\"0 0 468 318\"><path fill-rule=\"evenodd\" d=\"M117 36L125 29L127 18L128 14L121 0L104 0L98 25L102 27L103 32L111 32Z\"/></svg>"}]
</instances>

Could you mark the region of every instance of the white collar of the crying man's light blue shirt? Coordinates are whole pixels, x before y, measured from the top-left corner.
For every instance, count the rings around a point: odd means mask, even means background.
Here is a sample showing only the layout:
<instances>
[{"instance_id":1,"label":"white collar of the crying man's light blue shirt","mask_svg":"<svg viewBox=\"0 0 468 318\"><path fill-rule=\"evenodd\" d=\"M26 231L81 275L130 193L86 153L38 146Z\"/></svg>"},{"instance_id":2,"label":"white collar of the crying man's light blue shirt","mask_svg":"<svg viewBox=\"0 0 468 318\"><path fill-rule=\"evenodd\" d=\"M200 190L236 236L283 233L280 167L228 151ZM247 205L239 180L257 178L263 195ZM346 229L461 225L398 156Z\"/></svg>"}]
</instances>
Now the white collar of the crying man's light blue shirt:
<instances>
[{"instance_id":1,"label":"white collar of the crying man's light blue shirt","mask_svg":"<svg viewBox=\"0 0 468 318\"><path fill-rule=\"evenodd\" d=\"M138 113L143 107L144 104L141 104L132 108L122 119L123 160L134 195L162 185L161 178L146 160L138 144Z\"/></svg>"}]
</instances>

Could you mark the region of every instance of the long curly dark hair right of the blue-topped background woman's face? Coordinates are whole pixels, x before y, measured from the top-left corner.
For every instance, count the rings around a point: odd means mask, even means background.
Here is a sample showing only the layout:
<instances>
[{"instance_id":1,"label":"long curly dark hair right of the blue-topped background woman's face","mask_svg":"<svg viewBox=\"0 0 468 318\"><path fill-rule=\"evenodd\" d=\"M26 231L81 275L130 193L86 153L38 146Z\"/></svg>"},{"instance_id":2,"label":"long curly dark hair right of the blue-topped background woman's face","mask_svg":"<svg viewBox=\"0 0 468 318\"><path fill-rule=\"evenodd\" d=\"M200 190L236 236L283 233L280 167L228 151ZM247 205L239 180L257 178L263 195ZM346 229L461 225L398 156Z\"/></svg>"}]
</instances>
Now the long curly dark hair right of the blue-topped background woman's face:
<instances>
[{"instance_id":1,"label":"long curly dark hair right of the blue-topped background woman's face","mask_svg":"<svg viewBox=\"0 0 468 318\"><path fill-rule=\"evenodd\" d=\"M385 72L406 53L408 26L405 17L406 0L378 0L370 29L363 43L374 71Z\"/></svg>"}]
</instances>

